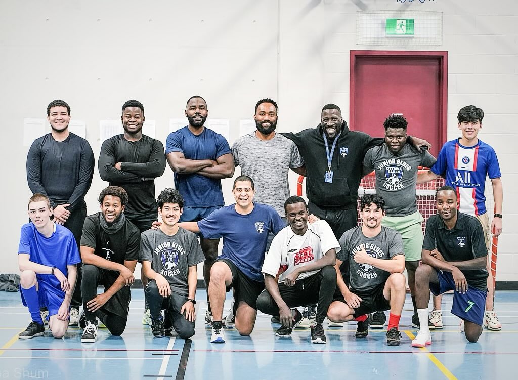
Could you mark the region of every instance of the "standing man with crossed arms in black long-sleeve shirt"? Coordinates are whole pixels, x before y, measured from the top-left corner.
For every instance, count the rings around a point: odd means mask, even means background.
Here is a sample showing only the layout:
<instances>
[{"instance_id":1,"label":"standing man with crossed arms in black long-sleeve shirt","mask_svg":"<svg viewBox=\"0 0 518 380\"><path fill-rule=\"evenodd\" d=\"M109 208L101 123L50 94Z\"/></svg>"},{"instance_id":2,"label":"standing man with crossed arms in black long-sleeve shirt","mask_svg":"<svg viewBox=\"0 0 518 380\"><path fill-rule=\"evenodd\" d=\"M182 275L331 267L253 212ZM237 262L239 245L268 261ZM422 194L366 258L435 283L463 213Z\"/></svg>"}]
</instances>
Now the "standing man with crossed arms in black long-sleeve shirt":
<instances>
[{"instance_id":1,"label":"standing man with crossed arms in black long-sleeve shirt","mask_svg":"<svg viewBox=\"0 0 518 380\"><path fill-rule=\"evenodd\" d=\"M146 121L142 103L136 100L124 103L121 121L124 133L107 139L100 148L99 174L110 186L126 190L130 200L124 214L143 232L151 228L157 217L154 179L164 174L164 146L159 140L142 134ZM145 287L147 278L143 270L140 279ZM151 326L149 315L146 301L142 324Z\"/></svg>"}]
</instances>

